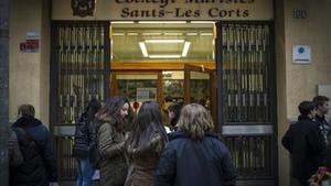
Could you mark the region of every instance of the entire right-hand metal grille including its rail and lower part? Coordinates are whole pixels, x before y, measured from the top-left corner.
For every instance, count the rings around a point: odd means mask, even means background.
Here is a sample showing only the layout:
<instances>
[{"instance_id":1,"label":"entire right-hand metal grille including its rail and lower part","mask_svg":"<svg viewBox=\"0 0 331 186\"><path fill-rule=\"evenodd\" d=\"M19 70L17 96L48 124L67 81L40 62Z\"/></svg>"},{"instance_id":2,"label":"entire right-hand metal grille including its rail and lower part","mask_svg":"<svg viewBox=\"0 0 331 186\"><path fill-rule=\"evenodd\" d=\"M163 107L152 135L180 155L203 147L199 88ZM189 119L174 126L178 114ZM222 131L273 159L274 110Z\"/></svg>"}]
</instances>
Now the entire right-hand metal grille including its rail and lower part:
<instances>
[{"instance_id":1,"label":"entire right-hand metal grille including its rail and lower part","mask_svg":"<svg viewBox=\"0 0 331 186\"><path fill-rule=\"evenodd\" d=\"M270 24L226 22L218 29L225 143L239 178L274 179L276 109L271 108L275 77L270 72L274 66ZM266 127L270 130L264 131Z\"/></svg>"}]
</instances>

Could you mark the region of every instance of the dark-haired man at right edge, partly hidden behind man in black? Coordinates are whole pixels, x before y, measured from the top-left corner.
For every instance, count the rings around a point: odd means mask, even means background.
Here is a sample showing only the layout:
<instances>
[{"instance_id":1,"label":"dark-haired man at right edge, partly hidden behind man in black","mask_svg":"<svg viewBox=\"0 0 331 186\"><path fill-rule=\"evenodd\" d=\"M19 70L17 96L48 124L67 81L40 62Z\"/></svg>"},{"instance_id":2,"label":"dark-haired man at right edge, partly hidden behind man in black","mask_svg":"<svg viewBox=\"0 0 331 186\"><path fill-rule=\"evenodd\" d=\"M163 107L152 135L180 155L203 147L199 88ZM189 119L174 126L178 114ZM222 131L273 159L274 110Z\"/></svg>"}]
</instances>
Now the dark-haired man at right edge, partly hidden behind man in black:
<instances>
[{"instance_id":1,"label":"dark-haired man at right edge, partly hidden behind man in black","mask_svg":"<svg viewBox=\"0 0 331 186\"><path fill-rule=\"evenodd\" d=\"M319 124L327 146L329 146L331 143L331 124L327 121L325 114L328 114L330 110L330 99L325 96L317 96L312 99L312 101L317 106L317 111L314 116L316 122Z\"/></svg>"}]
</instances>

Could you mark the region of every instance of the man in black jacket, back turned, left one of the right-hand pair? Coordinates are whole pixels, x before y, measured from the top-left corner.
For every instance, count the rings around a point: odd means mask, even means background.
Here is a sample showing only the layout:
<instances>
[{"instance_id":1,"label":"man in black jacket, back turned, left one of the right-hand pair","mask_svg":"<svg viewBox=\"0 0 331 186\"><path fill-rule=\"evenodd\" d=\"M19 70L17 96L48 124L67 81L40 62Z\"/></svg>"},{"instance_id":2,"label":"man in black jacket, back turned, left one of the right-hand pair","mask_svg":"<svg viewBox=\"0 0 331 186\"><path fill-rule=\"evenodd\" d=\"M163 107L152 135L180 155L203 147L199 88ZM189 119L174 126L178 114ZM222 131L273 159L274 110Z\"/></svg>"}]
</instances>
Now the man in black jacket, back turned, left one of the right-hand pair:
<instances>
[{"instance_id":1,"label":"man in black jacket, back turned, left one of the right-hand pair","mask_svg":"<svg viewBox=\"0 0 331 186\"><path fill-rule=\"evenodd\" d=\"M302 101L299 111L298 122L289 127L281 143L291 154L293 182L299 186L308 186L308 179L323 162L321 153L325 143L319 125L313 121L316 105Z\"/></svg>"}]
</instances>

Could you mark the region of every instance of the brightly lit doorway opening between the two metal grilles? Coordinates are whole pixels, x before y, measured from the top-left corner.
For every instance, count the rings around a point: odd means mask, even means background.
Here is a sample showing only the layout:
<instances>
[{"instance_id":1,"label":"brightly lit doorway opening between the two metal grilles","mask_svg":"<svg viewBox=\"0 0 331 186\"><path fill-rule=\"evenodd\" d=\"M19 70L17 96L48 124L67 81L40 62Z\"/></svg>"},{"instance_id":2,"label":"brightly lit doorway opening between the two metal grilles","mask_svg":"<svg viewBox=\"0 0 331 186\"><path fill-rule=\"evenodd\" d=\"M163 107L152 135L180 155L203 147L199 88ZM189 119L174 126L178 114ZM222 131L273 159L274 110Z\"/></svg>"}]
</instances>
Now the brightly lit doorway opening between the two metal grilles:
<instances>
[{"instance_id":1,"label":"brightly lit doorway opening between the two metal grilles","mask_svg":"<svg viewBox=\"0 0 331 186\"><path fill-rule=\"evenodd\" d=\"M127 97L135 112L146 100L163 110L199 102L216 119L214 24L113 22L110 40L110 96Z\"/></svg>"}]
</instances>

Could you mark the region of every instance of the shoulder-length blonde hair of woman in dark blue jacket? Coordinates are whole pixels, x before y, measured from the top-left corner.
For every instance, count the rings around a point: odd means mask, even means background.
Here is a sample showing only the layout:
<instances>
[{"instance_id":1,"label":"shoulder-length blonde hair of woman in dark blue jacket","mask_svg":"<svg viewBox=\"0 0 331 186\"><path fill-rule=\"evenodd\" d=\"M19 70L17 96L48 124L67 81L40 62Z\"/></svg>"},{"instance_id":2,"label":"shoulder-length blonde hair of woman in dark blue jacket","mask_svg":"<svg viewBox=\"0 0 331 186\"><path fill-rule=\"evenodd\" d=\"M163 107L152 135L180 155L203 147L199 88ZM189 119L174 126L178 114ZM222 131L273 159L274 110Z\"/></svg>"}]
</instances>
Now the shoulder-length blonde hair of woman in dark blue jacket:
<instances>
[{"instance_id":1,"label":"shoulder-length blonde hair of woman in dark blue jacket","mask_svg":"<svg viewBox=\"0 0 331 186\"><path fill-rule=\"evenodd\" d=\"M202 140L205 132L211 132L214 123L211 113L199 103L183 107L178 127L193 140Z\"/></svg>"}]
</instances>

